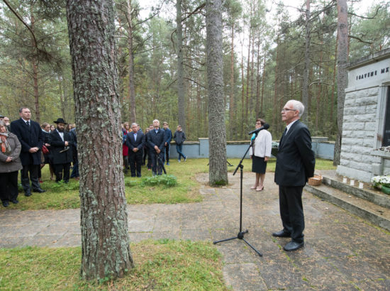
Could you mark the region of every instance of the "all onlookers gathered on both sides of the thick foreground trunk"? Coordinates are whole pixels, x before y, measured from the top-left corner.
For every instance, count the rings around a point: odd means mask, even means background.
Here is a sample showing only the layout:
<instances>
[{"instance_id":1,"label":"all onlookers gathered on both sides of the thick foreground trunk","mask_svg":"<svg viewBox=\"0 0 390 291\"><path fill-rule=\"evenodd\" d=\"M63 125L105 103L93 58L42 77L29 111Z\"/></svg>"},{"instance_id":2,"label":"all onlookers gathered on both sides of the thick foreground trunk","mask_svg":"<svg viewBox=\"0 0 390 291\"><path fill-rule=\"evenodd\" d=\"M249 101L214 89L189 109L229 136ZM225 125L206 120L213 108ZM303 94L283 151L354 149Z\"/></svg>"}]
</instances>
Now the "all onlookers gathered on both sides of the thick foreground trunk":
<instances>
[{"instance_id":1,"label":"all onlookers gathered on both sides of the thick foreground trunk","mask_svg":"<svg viewBox=\"0 0 390 291\"><path fill-rule=\"evenodd\" d=\"M48 165L50 180L68 183L70 178L79 179L77 158L77 131L73 123L59 118L54 124L31 120L30 109L19 109L20 119L12 121L0 114L0 199L4 207L18 203L18 171L21 171L21 185L24 195L43 193L41 169ZM169 146L176 141L179 162L186 155L182 145L186 140L181 126L172 136L168 123L155 119L143 133L137 123L123 123L123 166L130 169L132 177L141 177L141 166L152 170L152 175L162 175L164 165L169 165ZM70 173L71 165L72 173Z\"/></svg>"}]
</instances>

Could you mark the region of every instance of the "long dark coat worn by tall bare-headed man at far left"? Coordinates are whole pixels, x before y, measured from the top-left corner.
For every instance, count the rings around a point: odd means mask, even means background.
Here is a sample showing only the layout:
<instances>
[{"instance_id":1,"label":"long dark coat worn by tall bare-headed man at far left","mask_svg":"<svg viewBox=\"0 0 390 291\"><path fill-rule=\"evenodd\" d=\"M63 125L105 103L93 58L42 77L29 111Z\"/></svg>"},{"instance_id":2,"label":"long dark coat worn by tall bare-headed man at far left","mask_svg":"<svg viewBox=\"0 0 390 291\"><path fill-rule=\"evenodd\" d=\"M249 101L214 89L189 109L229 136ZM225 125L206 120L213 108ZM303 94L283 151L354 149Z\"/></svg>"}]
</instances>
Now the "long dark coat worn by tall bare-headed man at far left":
<instances>
[{"instance_id":1,"label":"long dark coat worn by tall bare-headed man at far left","mask_svg":"<svg viewBox=\"0 0 390 291\"><path fill-rule=\"evenodd\" d=\"M21 143L21 161L22 165L40 165L42 159L43 132L38 122L30 120L30 128L23 119L11 122L11 133L18 137ZM36 153L30 153L30 148L38 147L40 150Z\"/></svg>"}]
</instances>

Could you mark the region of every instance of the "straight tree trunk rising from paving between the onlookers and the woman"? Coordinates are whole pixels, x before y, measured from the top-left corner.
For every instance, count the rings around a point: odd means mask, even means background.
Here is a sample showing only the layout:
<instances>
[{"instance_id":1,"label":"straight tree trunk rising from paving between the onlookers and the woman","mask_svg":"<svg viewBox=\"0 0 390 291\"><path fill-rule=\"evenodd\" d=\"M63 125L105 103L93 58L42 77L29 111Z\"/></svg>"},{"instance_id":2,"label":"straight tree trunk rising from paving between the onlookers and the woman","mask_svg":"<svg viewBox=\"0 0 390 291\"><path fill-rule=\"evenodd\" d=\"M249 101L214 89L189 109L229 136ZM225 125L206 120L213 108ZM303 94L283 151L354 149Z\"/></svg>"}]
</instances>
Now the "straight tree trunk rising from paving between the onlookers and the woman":
<instances>
[{"instance_id":1,"label":"straight tree trunk rising from paving between the onlookers and the woman","mask_svg":"<svg viewBox=\"0 0 390 291\"><path fill-rule=\"evenodd\" d=\"M222 3L206 1L206 55L208 82L208 143L210 185L228 184L226 128L223 105Z\"/></svg>"}]
</instances>

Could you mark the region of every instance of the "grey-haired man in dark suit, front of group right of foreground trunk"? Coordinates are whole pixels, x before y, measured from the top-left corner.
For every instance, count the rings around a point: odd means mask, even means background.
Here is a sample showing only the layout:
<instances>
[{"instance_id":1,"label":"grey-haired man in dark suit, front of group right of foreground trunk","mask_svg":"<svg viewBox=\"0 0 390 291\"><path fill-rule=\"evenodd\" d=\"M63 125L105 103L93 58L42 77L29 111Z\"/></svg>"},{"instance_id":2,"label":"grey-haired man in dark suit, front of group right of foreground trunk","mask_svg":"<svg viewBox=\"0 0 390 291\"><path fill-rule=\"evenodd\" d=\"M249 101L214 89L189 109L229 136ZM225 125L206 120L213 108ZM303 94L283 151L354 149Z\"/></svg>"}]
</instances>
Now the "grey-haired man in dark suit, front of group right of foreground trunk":
<instances>
[{"instance_id":1,"label":"grey-haired man in dark suit, front of group right of foreground trunk","mask_svg":"<svg viewBox=\"0 0 390 291\"><path fill-rule=\"evenodd\" d=\"M152 172L153 175L162 175L162 156L160 156L160 153L162 155L164 154L166 141L165 131L160 128L160 121L157 119L153 121L153 127L154 128L149 131L149 137L147 138L147 142L150 146L150 156L152 157ZM159 156L160 159L158 158Z\"/></svg>"}]
</instances>

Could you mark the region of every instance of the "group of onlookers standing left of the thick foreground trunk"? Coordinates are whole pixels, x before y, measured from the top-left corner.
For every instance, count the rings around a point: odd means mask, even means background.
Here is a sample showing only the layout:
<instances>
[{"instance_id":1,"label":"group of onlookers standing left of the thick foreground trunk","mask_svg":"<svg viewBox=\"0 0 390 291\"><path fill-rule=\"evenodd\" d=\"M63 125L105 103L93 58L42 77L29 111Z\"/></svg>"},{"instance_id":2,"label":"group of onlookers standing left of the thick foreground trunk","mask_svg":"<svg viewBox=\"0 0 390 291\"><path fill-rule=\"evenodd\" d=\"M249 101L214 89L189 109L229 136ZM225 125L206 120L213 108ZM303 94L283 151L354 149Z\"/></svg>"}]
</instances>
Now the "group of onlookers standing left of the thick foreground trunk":
<instances>
[{"instance_id":1,"label":"group of onlookers standing left of the thick foreground trunk","mask_svg":"<svg viewBox=\"0 0 390 291\"><path fill-rule=\"evenodd\" d=\"M9 122L0 115L0 199L4 207L18 203L18 170L26 197L32 192L43 193L41 169L48 164L50 179L69 182L79 178L77 134L74 124L64 119L50 125L31 120L30 109L19 109L20 119ZM72 175L70 165L73 163Z\"/></svg>"}]
</instances>

